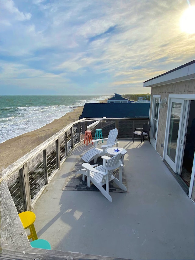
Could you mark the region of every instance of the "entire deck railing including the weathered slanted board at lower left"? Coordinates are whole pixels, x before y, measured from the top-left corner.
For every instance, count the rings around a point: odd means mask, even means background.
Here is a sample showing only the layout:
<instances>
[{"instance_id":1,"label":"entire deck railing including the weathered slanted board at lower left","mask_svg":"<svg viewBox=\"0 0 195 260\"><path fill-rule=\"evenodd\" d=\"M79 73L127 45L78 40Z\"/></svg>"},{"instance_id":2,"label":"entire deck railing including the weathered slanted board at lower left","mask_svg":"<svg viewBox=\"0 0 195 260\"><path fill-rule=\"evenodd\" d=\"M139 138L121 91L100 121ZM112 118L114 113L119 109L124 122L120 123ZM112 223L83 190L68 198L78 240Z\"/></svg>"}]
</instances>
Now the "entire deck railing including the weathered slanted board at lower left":
<instances>
[{"instance_id":1,"label":"entire deck railing including the weathered slanted board at lower left","mask_svg":"<svg viewBox=\"0 0 195 260\"><path fill-rule=\"evenodd\" d=\"M96 124L96 121L100 121L100 125ZM80 119L4 169L0 173L0 243L30 247L25 232L20 231L23 227L18 213L32 209L69 153L84 140L87 126L96 122L95 128L102 129L103 137L107 137L110 130L117 128L118 139L130 139L133 137L134 128L142 127L143 123L148 121L149 119ZM92 130L92 137L94 134L95 129ZM10 226L14 227L10 229Z\"/></svg>"}]
</instances>

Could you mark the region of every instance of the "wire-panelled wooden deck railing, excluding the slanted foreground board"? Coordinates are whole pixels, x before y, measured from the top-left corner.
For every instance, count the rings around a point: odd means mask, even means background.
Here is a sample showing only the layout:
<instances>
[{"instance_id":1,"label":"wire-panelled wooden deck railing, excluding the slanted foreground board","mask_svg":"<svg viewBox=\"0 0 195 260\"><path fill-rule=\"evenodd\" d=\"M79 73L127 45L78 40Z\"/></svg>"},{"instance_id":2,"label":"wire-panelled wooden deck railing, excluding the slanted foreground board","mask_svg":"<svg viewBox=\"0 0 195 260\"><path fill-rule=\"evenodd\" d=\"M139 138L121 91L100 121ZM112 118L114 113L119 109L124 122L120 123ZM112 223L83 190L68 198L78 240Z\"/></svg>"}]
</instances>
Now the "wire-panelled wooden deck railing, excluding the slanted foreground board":
<instances>
[{"instance_id":1,"label":"wire-panelled wooden deck railing, excluding the slanted foreground board","mask_svg":"<svg viewBox=\"0 0 195 260\"><path fill-rule=\"evenodd\" d=\"M149 119L80 119L49 138L47 141L17 160L0 176L5 179L17 211L31 210L45 186L60 169L71 150L83 141L84 131L97 122L107 137L113 128L118 128L118 138L132 138L133 129L148 123ZM94 130L95 132L95 130ZM92 135L94 135L92 132Z\"/></svg>"}]
</instances>

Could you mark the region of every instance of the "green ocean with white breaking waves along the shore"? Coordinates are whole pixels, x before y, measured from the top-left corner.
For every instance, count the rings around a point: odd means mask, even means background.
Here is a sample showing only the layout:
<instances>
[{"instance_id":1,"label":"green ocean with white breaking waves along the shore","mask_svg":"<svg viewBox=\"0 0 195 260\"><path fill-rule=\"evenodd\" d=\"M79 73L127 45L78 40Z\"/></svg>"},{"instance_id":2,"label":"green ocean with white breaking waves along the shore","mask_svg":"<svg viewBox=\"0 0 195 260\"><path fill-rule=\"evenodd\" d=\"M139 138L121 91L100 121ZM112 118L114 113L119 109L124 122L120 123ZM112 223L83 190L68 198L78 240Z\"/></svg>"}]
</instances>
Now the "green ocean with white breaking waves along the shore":
<instances>
[{"instance_id":1,"label":"green ocean with white breaking waves along the shore","mask_svg":"<svg viewBox=\"0 0 195 260\"><path fill-rule=\"evenodd\" d=\"M109 96L0 96L0 143Z\"/></svg>"}]
</instances>

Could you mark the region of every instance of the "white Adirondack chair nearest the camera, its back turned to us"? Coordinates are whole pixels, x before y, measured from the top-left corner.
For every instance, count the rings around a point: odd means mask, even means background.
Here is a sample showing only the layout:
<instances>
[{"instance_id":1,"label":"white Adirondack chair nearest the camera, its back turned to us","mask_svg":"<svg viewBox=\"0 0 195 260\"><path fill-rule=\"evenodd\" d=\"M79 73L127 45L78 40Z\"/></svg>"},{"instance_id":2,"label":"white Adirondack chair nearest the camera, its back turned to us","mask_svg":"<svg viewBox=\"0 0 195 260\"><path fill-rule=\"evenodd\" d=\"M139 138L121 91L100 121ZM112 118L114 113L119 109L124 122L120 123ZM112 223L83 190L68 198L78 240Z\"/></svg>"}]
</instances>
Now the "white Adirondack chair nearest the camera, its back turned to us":
<instances>
[{"instance_id":1,"label":"white Adirondack chair nearest the camera, its back turned to us","mask_svg":"<svg viewBox=\"0 0 195 260\"><path fill-rule=\"evenodd\" d=\"M120 160L121 153L113 156L112 158L104 155L103 165L99 165L93 168L89 163L85 162L82 164L86 170L85 175L87 176L87 186L90 187L90 182L98 188L99 191L112 202L112 197L109 194L109 181L113 180L123 191L127 191L124 184L122 184L122 162ZM112 175L115 169L119 168L119 180ZM83 169L83 170L84 170ZM83 171L84 174L84 171ZM106 189L102 186L106 184Z\"/></svg>"}]
</instances>

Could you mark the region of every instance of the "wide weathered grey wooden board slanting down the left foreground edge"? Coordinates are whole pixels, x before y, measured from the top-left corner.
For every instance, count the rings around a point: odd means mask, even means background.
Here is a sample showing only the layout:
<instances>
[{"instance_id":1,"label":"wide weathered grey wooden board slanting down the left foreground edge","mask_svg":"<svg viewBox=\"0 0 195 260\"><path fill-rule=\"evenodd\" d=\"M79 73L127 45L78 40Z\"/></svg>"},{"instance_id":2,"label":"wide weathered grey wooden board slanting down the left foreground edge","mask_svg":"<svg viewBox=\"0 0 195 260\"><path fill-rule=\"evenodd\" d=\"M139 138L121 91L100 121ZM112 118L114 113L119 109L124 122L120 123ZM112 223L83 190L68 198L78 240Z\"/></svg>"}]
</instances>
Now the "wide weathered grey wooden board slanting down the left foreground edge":
<instances>
[{"instance_id":1,"label":"wide weathered grey wooden board slanting down the left foreground edge","mask_svg":"<svg viewBox=\"0 0 195 260\"><path fill-rule=\"evenodd\" d=\"M5 180L0 182L0 216L0 243L31 248Z\"/></svg>"}]
</instances>

